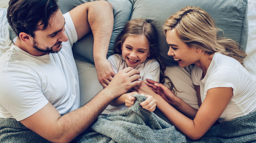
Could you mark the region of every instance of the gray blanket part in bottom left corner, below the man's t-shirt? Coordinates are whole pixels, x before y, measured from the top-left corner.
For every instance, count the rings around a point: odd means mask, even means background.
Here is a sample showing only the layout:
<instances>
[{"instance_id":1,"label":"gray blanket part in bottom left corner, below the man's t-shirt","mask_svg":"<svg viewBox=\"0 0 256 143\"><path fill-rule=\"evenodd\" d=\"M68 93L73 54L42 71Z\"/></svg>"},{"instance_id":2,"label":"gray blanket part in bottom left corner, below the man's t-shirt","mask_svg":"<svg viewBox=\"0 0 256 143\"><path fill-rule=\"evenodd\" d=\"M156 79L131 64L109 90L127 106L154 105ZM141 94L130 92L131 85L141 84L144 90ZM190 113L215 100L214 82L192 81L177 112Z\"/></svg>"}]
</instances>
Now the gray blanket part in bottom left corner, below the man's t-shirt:
<instances>
[{"instance_id":1,"label":"gray blanket part in bottom left corner, below the man's t-shirt","mask_svg":"<svg viewBox=\"0 0 256 143\"><path fill-rule=\"evenodd\" d=\"M1 143L50 143L16 119L0 118Z\"/></svg>"}]
</instances>

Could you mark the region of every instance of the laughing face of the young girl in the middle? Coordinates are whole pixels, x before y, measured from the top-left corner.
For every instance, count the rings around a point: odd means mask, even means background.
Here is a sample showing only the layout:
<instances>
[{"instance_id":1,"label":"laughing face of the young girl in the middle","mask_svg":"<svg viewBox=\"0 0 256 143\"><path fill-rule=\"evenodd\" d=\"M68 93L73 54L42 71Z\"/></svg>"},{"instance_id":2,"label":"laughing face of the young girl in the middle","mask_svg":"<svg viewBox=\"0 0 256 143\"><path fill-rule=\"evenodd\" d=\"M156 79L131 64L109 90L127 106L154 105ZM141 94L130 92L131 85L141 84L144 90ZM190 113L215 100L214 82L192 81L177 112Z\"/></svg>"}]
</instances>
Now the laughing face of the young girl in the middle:
<instances>
[{"instance_id":1,"label":"laughing face of the young girl in the middle","mask_svg":"<svg viewBox=\"0 0 256 143\"><path fill-rule=\"evenodd\" d=\"M148 40L145 36L129 36L121 45L122 56L128 67L143 63L149 55Z\"/></svg>"}]
</instances>

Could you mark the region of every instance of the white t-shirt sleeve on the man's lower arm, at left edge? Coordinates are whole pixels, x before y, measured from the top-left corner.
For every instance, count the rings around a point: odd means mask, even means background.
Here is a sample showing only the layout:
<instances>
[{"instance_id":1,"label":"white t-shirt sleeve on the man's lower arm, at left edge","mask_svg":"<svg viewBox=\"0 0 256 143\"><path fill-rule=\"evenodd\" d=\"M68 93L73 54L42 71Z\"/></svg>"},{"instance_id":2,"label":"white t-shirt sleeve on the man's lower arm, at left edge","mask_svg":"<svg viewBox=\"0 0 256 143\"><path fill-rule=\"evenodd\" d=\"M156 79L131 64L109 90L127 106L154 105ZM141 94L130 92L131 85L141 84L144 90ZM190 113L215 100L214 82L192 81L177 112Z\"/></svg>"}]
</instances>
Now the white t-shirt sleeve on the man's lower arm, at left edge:
<instances>
[{"instance_id":1,"label":"white t-shirt sleeve on the man's lower arm, at left edge","mask_svg":"<svg viewBox=\"0 0 256 143\"><path fill-rule=\"evenodd\" d=\"M20 78L22 77L22 78ZM15 71L0 74L1 117L23 120L43 108L48 100L40 89L40 83L32 75Z\"/></svg>"}]
</instances>

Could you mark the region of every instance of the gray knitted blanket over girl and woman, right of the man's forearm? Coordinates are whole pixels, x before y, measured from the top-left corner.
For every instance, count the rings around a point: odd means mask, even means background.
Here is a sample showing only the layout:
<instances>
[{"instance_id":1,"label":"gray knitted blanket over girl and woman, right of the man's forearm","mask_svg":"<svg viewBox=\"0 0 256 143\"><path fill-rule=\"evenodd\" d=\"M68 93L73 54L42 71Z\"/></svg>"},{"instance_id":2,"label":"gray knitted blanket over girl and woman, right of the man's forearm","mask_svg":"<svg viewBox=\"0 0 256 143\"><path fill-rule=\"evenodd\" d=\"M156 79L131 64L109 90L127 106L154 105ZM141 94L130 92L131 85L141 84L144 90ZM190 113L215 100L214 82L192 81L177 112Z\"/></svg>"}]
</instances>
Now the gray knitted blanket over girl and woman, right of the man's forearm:
<instances>
[{"instance_id":1,"label":"gray knitted blanket over girl and woman, right of the man's forearm","mask_svg":"<svg viewBox=\"0 0 256 143\"><path fill-rule=\"evenodd\" d=\"M143 109L139 103L145 100L144 96L135 97L136 103L127 110L97 119L78 142L256 142L256 112L213 126L202 138L195 141L154 113Z\"/></svg>"}]
</instances>

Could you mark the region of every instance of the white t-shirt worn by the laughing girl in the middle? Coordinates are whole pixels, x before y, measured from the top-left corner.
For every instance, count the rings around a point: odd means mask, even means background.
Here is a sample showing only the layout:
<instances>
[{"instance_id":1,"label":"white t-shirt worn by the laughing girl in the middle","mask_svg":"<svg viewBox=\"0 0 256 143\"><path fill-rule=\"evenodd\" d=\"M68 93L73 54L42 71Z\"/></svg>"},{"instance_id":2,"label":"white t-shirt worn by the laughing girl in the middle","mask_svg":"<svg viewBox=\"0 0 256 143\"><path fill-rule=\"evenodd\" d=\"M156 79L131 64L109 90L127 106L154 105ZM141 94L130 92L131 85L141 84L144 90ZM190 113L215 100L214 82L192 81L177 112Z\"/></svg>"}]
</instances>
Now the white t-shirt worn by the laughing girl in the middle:
<instances>
[{"instance_id":1,"label":"white t-shirt worn by the laughing girl in the middle","mask_svg":"<svg viewBox=\"0 0 256 143\"><path fill-rule=\"evenodd\" d=\"M108 61L112 64L113 70L116 73L128 67L122 55L119 55L119 54L114 54L110 56L108 58ZM141 77L140 80L151 79L159 82L160 66L155 59L146 60L145 62L136 66L134 69L139 70L139 73L140 73L139 75ZM119 105L119 106L108 105L101 115L108 115L115 111L125 110L125 109L127 109L125 105Z\"/></svg>"}]
</instances>

